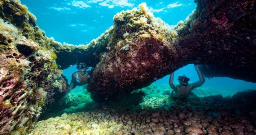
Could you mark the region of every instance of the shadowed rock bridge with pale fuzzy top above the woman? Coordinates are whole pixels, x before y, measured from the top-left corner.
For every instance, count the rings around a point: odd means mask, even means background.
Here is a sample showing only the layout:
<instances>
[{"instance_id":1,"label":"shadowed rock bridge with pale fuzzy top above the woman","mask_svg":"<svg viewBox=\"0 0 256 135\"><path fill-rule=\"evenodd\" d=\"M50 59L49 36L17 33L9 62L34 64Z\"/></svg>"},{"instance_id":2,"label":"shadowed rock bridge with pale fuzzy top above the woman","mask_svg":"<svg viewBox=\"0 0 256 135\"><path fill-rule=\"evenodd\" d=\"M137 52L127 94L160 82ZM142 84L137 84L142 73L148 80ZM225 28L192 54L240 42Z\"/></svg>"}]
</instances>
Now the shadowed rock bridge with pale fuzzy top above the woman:
<instances>
[{"instance_id":1,"label":"shadowed rock bridge with pale fuzzy top above the woman","mask_svg":"<svg viewBox=\"0 0 256 135\"><path fill-rule=\"evenodd\" d=\"M102 59L103 53L109 52L107 44L111 40L112 28L106 30L97 39L93 39L87 45L72 45L60 42L50 44L57 55L56 63L60 69L66 69L82 60L88 67L95 67Z\"/></svg>"}]
</instances>

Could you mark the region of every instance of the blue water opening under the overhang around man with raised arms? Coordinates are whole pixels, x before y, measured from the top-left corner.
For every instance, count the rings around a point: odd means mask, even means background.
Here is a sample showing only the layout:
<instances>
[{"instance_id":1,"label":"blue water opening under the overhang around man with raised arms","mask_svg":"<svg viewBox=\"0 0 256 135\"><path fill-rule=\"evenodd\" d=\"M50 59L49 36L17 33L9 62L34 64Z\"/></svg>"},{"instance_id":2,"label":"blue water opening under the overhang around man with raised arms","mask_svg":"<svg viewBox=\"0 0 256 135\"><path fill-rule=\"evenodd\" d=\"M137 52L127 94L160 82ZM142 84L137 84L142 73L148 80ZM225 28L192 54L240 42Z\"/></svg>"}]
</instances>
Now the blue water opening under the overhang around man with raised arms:
<instances>
[{"instance_id":1,"label":"blue water opening under the overhang around man with raised arms","mask_svg":"<svg viewBox=\"0 0 256 135\"><path fill-rule=\"evenodd\" d=\"M187 66L184 66L178 69L177 71L175 71L174 84L178 84L177 78L178 78L178 75L180 74L185 74L187 77L189 77L190 83L199 80L199 77L197 75L197 72L194 69L193 64L188 64ZM168 82L169 77L170 75L167 75L162 79L156 80L153 84L158 85L160 87L161 86L169 87L169 82ZM208 93L207 95L221 94L222 96L228 96L228 95L232 96L239 91L256 90L256 83L246 82L243 80L237 80L229 77L213 77L213 78L205 78L205 80L206 81L204 82L204 84L196 89L206 91L206 93ZM169 89L171 90L170 87ZM196 89L194 91L197 91Z\"/></svg>"}]
</instances>

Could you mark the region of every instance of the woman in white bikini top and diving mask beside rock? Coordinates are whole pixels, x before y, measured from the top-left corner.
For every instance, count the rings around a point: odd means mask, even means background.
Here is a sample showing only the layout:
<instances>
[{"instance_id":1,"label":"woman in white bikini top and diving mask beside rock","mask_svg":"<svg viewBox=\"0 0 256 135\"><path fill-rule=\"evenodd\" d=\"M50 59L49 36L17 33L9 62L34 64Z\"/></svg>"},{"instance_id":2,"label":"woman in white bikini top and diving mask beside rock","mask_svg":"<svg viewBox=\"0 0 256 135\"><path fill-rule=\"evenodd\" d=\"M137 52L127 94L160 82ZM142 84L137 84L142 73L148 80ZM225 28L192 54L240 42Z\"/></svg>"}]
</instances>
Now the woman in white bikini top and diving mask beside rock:
<instances>
[{"instance_id":1,"label":"woman in white bikini top and diving mask beside rock","mask_svg":"<svg viewBox=\"0 0 256 135\"><path fill-rule=\"evenodd\" d=\"M76 85L82 86L89 82L90 71L86 71L86 69L88 69L87 65L84 62L79 61L76 68L79 71L76 71L75 73L72 74L72 80L70 82L69 89L67 90L67 93L64 96L64 98L69 96L71 89L74 89Z\"/></svg>"}]
</instances>

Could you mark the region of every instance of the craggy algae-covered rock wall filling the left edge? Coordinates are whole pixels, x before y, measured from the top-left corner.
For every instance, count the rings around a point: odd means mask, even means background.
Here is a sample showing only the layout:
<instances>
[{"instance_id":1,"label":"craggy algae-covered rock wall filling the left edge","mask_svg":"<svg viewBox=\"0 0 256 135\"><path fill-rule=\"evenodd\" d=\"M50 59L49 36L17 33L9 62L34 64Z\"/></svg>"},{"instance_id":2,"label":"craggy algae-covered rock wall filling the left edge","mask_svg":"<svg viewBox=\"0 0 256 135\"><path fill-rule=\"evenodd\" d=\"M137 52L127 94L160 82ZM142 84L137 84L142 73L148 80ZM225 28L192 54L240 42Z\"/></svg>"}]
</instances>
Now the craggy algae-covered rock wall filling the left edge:
<instances>
[{"instance_id":1,"label":"craggy algae-covered rock wall filling the left edge","mask_svg":"<svg viewBox=\"0 0 256 135\"><path fill-rule=\"evenodd\" d=\"M25 134L66 93L52 42L20 1L0 1L0 135Z\"/></svg>"}]
</instances>

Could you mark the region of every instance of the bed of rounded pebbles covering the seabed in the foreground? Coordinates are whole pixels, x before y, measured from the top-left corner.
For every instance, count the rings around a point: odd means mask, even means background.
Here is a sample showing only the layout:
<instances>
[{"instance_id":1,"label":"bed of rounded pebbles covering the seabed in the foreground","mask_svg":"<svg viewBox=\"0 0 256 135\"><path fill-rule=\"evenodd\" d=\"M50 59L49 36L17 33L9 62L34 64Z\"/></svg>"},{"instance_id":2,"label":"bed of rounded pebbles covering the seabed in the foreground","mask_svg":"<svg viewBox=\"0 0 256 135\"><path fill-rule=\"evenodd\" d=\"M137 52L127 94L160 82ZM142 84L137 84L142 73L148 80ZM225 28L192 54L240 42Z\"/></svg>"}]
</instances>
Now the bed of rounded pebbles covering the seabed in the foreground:
<instances>
[{"instance_id":1,"label":"bed of rounded pebbles covering the seabed in the foreground","mask_svg":"<svg viewBox=\"0 0 256 135\"><path fill-rule=\"evenodd\" d=\"M61 117L37 122L29 135L182 135L185 133L242 135L256 133L250 121L243 117L212 117L180 108L172 112L166 112L163 109L127 114L118 112L121 111L95 109L90 112L64 113ZM102 115L103 113L105 115ZM230 120L232 123L227 125L226 123Z\"/></svg>"}]
</instances>

